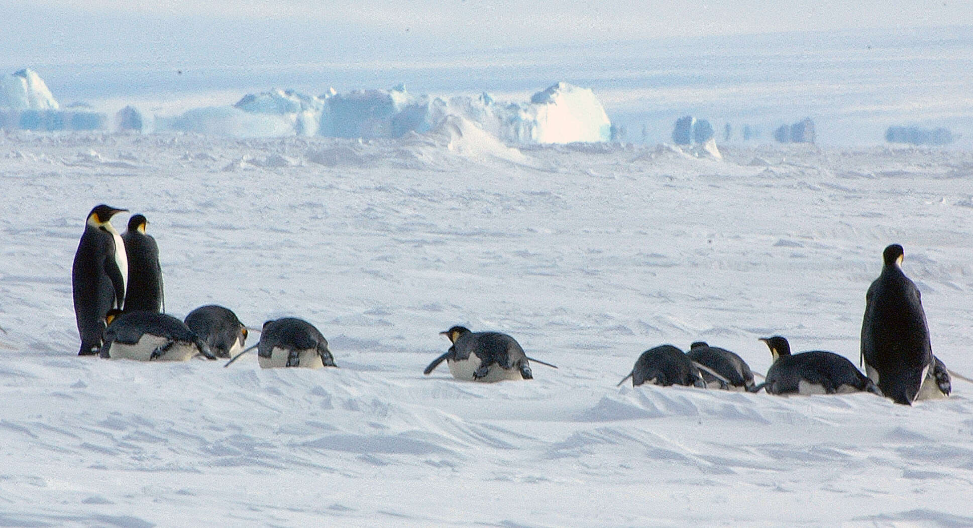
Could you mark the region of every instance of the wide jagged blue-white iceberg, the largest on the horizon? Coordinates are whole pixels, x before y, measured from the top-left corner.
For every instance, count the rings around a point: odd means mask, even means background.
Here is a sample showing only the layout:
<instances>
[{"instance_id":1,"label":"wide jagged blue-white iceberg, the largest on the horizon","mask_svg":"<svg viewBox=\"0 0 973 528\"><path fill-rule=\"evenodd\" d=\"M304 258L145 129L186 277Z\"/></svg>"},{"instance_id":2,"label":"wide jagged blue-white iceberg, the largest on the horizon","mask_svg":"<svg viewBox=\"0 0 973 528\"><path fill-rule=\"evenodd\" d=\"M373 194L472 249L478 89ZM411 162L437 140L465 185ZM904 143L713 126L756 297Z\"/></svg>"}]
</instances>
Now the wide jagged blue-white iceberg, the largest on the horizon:
<instances>
[{"instance_id":1,"label":"wide jagged blue-white iceberg, the largest on the horizon","mask_svg":"<svg viewBox=\"0 0 973 528\"><path fill-rule=\"evenodd\" d=\"M247 94L233 106L193 109L176 117L157 117L159 130L225 134L236 137L303 135L345 138L399 138L423 133L449 116L478 123L512 144L601 142L611 139L611 122L592 90L558 83L530 102L500 103L479 97L414 95L399 85L311 96L274 89Z\"/></svg>"}]
</instances>

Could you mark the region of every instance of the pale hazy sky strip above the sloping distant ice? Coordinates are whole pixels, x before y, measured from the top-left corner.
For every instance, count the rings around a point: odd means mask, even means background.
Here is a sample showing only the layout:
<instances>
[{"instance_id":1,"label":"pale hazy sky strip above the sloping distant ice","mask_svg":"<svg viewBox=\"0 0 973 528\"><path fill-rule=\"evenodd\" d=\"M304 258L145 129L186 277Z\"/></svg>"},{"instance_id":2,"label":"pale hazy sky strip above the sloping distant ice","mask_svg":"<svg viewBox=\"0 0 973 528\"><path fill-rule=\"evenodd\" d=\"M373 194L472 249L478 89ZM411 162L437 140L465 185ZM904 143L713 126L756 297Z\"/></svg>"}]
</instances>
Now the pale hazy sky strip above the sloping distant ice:
<instances>
[{"instance_id":1,"label":"pale hazy sky strip above the sloping distant ice","mask_svg":"<svg viewBox=\"0 0 973 528\"><path fill-rule=\"evenodd\" d=\"M303 62L973 25L970 0L2 0L0 63Z\"/></svg>"}]
</instances>

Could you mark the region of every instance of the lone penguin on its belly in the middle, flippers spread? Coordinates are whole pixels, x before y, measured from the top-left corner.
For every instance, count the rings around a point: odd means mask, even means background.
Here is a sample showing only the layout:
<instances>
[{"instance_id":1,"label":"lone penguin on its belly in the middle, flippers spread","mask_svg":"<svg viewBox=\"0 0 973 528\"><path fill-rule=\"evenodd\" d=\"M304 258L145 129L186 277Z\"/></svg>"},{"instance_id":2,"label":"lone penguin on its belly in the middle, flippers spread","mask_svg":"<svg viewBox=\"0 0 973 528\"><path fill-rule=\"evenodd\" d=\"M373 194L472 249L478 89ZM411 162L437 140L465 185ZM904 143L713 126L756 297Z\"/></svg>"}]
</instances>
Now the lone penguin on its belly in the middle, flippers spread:
<instances>
[{"instance_id":1,"label":"lone penguin on its belly in the middle, flippers spread","mask_svg":"<svg viewBox=\"0 0 973 528\"><path fill-rule=\"evenodd\" d=\"M557 369L550 363L528 358L521 344L510 335L499 332L471 332L455 326L440 335L450 339L450 349L433 360L422 371L429 375L446 360L450 374L456 379L472 381L501 381L504 379L533 379L530 362Z\"/></svg>"}]
</instances>

